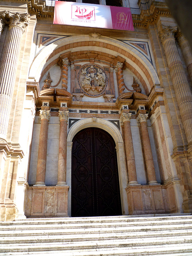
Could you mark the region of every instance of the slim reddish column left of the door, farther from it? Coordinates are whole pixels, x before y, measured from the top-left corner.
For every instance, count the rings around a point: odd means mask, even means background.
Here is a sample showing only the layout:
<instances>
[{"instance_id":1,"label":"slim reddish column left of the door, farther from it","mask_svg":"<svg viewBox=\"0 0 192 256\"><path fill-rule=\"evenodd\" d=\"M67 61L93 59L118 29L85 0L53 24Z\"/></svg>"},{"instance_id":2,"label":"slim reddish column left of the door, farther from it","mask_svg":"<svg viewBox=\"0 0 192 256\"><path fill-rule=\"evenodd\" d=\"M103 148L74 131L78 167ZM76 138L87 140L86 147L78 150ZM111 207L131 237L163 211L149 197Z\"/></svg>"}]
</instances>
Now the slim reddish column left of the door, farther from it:
<instances>
[{"instance_id":1,"label":"slim reddish column left of the door, farther from it","mask_svg":"<svg viewBox=\"0 0 192 256\"><path fill-rule=\"evenodd\" d=\"M41 128L39 136L39 150L37 160L36 186L45 186L46 160L47 160L47 140L48 121L50 110L40 110Z\"/></svg>"}]
</instances>

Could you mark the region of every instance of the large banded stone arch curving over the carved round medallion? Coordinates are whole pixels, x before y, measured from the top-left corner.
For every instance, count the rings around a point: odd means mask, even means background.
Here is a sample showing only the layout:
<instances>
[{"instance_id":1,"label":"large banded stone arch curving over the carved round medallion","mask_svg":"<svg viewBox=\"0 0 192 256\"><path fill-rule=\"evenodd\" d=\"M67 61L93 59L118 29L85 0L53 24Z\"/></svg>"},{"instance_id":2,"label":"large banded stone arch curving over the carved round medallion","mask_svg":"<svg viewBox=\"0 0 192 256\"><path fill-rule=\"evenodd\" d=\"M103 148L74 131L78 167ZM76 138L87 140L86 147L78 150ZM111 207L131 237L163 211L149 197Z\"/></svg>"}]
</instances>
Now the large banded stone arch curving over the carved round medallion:
<instances>
[{"instance_id":1,"label":"large banded stone arch curving over the carved round medallion","mask_svg":"<svg viewBox=\"0 0 192 256\"><path fill-rule=\"evenodd\" d=\"M39 81L42 77L41 74L56 64L61 54L65 54L66 52L79 53L83 51L97 52L101 56L106 53L110 58L116 56L124 58L126 60L126 66L136 76L140 74L146 94L150 92L154 84L159 84L156 70L139 50L136 50L130 44L125 44L112 38L101 36L95 39L90 38L88 35L75 36L75 40L74 36L70 36L50 42L34 58L30 67L29 77Z\"/></svg>"}]
</instances>

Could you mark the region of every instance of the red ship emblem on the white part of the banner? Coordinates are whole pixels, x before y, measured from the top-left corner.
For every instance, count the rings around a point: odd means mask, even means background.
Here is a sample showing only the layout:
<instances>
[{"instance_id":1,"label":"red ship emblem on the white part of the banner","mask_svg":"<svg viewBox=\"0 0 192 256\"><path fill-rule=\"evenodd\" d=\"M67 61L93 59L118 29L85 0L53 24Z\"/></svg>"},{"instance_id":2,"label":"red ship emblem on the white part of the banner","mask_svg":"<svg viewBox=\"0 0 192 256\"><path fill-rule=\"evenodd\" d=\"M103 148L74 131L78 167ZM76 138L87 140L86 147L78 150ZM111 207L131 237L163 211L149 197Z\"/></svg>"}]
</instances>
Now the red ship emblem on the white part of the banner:
<instances>
[{"instance_id":1,"label":"red ship emblem on the white part of the banner","mask_svg":"<svg viewBox=\"0 0 192 256\"><path fill-rule=\"evenodd\" d=\"M71 18L79 20L95 21L95 8L92 6L72 5Z\"/></svg>"}]
</instances>

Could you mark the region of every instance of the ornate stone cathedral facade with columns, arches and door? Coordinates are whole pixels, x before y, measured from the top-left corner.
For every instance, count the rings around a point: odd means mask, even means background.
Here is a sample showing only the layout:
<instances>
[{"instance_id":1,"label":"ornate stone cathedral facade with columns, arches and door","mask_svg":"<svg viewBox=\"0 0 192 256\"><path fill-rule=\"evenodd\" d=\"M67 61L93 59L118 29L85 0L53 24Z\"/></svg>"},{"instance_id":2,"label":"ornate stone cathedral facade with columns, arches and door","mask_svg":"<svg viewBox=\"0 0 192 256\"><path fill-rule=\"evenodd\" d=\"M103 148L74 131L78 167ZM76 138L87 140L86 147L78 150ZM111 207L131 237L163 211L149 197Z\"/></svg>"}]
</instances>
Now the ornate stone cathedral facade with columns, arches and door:
<instances>
[{"instance_id":1,"label":"ornate stone cathedral facade with columns, arches and door","mask_svg":"<svg viewBox=\"0 0 192 256\"><path fill-rule=\"evenodd\" d=\"M0 5L1 221L191 213L188 41L164 0L73 2L130 8L134 31Z\"/></svg>"}]
</instances>

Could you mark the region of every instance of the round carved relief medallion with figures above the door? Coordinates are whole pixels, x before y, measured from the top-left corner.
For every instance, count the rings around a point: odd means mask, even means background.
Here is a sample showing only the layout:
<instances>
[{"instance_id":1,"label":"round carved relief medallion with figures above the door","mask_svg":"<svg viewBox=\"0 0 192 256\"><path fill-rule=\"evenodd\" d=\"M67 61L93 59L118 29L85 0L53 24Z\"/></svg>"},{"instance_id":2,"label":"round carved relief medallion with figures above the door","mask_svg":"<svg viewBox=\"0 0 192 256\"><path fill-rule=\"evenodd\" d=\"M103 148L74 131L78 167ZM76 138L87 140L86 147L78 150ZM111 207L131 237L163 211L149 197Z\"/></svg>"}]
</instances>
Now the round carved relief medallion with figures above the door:
<instances>
[{"instance_id":1,"label":"round carved relief medallion with figures above the door","mask_svg":"<svg viewBox=\"0 0 192 256\"><path fill-rule=\"evenodd\" d=\"M78 73L78 83L85 94L100 96L106 89L107 76L99 66L86 65Z\"/></svg>"}]
</instances>

